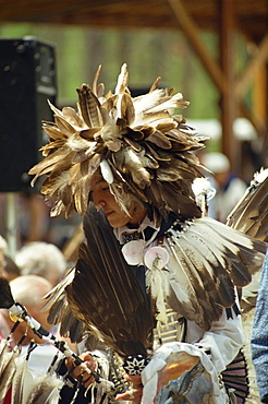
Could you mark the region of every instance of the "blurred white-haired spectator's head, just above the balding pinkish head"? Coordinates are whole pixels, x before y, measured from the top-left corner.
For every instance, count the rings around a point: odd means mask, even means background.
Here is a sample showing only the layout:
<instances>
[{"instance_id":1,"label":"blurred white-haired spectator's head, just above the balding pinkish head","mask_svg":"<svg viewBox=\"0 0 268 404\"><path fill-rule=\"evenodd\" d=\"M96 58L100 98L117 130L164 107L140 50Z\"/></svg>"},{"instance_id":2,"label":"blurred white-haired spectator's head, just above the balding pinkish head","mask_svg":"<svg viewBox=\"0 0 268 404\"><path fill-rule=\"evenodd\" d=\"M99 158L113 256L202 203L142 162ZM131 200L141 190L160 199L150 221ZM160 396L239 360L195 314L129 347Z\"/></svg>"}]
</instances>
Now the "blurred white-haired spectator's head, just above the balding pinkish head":
<instances>
[{"instance_id":1,"label":"blurred white-haired spectator's head, just above the balding pinkish head","mask_svg":"<svg viewBox=\"0 0 268 404\"><path fill-rule=\"evenodd\" d=\"M15 263L22 275L46 277L54 286L66 270L66 261L61 250L49 242L34 241L21 248L15 254Z\"/></svg>"}]
</instances>

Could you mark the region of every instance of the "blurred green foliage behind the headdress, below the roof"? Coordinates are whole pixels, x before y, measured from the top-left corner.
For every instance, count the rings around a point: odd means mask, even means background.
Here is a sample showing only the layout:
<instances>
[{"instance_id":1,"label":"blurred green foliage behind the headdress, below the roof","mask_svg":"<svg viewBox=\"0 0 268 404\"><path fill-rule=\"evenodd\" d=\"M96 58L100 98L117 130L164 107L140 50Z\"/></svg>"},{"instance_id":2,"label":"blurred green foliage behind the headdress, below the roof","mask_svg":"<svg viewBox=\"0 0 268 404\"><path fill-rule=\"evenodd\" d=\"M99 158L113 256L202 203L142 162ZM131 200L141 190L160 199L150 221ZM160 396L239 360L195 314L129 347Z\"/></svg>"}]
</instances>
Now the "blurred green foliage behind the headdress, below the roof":
<instances>
[{"instance_id":1,"label":"blurred green foliage behind the headdress, below the roof","mask_svg":"<svg viewBox=\"0 0 268 404\"><path fill-rule=\"evenodd\" d=\"M217 58L217 38L203 33L211 56ZM181 32L160 29L100 29L83 26L3 24L0 37L36 36L54 44L57 52L58 99L76 102L82 83L90 84L102 64L100 80L113 90L122 63L130 71L130 87L148 88L155 79L181 92L191 102L186 117L218 118L219 93ZM239 38L240 45L242 39ZM243 57L237 68L243 64Z\"/></svg>"}]
</instances>

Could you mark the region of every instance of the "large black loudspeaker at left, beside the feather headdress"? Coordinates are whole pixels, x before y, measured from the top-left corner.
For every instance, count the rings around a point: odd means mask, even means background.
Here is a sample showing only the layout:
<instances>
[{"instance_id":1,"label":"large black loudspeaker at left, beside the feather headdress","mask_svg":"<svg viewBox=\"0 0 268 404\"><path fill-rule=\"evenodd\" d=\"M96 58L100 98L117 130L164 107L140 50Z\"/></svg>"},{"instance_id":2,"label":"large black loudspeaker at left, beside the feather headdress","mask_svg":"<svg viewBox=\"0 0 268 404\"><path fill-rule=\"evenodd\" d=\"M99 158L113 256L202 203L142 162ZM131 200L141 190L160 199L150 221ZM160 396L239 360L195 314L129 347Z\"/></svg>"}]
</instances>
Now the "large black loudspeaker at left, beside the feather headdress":
<instances>
[{"instance_id":1,"label":"large black loudspeaker at left, beside the feather headdress","mask_svg":"<svg viewBox=\"0 0 268 404\"><path fill-rule=\"evenodd\" d=\"M57 97L54 47L35 37L0 39L0 192L29 192ZM39 188L38 186L36 187Z\"/></svg>"}]
</instances>

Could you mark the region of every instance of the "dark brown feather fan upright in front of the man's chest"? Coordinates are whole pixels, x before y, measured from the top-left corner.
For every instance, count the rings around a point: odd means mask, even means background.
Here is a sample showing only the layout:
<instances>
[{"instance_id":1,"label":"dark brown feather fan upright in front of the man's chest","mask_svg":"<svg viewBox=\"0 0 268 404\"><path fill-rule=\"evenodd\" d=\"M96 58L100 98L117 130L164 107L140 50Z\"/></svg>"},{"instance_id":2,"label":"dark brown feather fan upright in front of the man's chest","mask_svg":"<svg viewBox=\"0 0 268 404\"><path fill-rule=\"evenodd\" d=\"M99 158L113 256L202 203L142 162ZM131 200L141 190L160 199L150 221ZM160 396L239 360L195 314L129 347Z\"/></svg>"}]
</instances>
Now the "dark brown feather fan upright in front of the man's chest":
<instances>
[{"instance_id":1,"label":"dark brown feather fan upright in front of the man's chest","mask_svg":"<svg viewBox=\"0 0 268 404\"><path fill-rule=\"evenodd\" d=\"M151 311L103 212L92 203L84 231L87 245L80 248L75 277L66 287L71 308L120 355L146 354L153 343Z\"/></svg>"}]
</instances>

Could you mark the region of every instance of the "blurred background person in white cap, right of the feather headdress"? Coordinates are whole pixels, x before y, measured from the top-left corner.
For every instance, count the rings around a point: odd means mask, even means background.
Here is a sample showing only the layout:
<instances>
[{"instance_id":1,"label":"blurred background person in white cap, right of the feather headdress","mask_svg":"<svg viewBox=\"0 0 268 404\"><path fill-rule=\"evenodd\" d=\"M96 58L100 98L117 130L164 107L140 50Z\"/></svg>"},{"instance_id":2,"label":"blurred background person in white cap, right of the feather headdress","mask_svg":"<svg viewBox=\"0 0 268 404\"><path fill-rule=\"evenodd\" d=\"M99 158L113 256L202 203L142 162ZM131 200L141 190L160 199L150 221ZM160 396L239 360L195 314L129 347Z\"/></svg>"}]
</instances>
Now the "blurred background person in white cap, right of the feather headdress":
<instances>
[{"instance_id":1,"label":"blurred background person in white cap, right of the feather headdress","mask_svg":"<svg viewBox=\"0 0 268 404\"><path fill-rule=\"evenodd\" d=\"M212 171L209 181L216 195L208 202L208 216L226 223L227 216L243 197L246 182L231 171L229 158L222 153L207 153L202 163Z\"/></svg>"}]
</instances>

